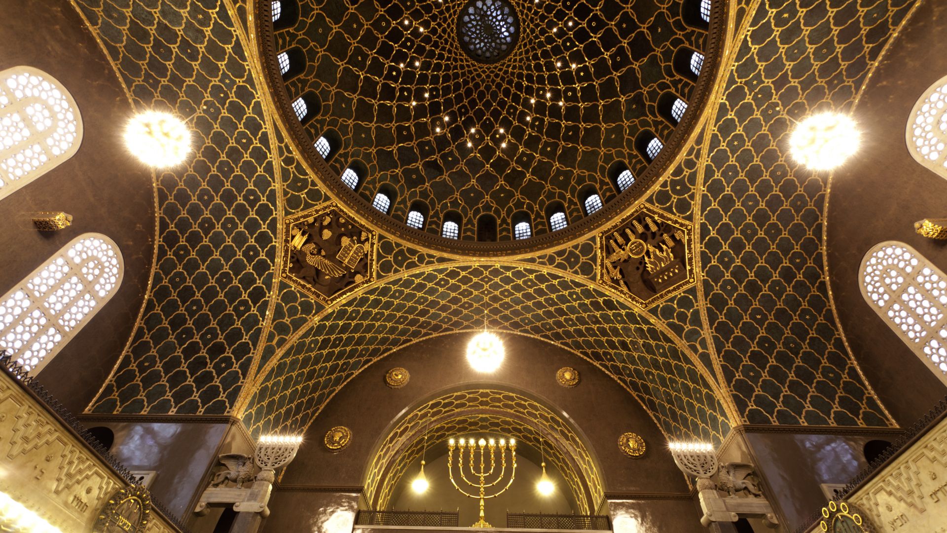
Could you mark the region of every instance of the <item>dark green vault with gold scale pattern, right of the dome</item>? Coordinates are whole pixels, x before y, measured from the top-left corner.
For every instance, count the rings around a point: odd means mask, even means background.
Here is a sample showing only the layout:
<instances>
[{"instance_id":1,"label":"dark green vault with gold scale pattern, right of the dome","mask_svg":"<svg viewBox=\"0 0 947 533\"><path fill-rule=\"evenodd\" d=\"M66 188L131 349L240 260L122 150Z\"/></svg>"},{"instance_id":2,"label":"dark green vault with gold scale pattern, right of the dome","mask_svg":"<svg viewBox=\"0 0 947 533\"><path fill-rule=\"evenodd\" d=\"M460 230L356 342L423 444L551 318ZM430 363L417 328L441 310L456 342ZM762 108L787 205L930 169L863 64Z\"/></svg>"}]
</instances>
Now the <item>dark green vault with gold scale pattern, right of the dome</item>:
<instances>
[{"instance_id":1,"label":"dark green vault with gold scale pattern, right of the dome","mask_svg":"<svg viewBox=\"0 0 947 533\"><path fill-rule=\"evenodd\" d=\"M784 150L792 123L846 111L911 0L763 0L706 141L701 264L708 335L746 422L887 426L832 314L826 176Z\"/></svg>"}]
</instances>

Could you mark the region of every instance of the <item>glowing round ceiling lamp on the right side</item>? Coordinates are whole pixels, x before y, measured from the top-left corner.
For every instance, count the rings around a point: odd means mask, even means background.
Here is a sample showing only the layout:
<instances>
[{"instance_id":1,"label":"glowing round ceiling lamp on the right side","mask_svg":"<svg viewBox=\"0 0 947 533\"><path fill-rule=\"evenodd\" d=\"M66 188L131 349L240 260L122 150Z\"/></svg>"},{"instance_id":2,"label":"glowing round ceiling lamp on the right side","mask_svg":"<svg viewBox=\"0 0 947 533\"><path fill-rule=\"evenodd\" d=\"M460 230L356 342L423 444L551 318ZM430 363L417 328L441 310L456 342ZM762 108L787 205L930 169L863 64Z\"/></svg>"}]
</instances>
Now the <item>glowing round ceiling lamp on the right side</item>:
<instances>
[{"instance_id":1,"label":"glowing round ceiling lamp on the right side","mask_svg":"<svg viewBox=\"0 0 947 533\"><path fill-rule=\"evenodd\" d=\"M797 123L789 138L790 155L815 171L838 167L858 151L861 134L841 113L819 113Z\"/></svg>"}]
</instances>

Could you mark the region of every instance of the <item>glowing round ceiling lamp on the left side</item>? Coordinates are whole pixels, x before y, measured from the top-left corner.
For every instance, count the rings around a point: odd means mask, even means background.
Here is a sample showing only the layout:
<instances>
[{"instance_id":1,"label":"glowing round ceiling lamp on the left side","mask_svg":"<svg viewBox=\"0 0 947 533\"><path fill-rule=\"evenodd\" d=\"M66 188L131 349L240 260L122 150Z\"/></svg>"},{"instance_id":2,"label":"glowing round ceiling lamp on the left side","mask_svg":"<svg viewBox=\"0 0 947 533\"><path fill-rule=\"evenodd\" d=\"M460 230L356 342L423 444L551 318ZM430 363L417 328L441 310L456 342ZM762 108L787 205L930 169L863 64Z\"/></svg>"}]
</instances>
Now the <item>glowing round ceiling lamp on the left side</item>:
<instances>
[{"instance_id":1,"label":"glowing round ceiling lamp on the left side","mask_svg":"<svg viewBox=\"0 0 947 533\"><path fill-rule=\"evenodd\" d=\"M125 146L151 167L173 167L184 162L190 143L184 121L163 111L139 113L125 126Z\"/></svg>"}]
</instances>

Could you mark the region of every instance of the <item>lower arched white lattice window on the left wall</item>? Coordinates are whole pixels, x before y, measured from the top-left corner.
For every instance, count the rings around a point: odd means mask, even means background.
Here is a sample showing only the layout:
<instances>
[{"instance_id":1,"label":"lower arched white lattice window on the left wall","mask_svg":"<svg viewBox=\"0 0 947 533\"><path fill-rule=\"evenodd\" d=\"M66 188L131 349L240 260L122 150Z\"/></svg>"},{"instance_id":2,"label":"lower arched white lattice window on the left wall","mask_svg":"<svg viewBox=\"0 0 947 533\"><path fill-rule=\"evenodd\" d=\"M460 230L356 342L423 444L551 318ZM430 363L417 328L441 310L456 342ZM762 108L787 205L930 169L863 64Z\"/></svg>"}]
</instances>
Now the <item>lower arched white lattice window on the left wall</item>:
<instances>
[{"instance_id":1,"label":"lower arched white lattice window on the left wall","mask_svg":"<svg viewBox=\"0 0 947 533\"><path fill-rule=\"evenodd\" d=\"M123 269L105 235L73 239L0 297L0 350L32 374L42 371L116 293Z\"/></svg>"}]
</instances>

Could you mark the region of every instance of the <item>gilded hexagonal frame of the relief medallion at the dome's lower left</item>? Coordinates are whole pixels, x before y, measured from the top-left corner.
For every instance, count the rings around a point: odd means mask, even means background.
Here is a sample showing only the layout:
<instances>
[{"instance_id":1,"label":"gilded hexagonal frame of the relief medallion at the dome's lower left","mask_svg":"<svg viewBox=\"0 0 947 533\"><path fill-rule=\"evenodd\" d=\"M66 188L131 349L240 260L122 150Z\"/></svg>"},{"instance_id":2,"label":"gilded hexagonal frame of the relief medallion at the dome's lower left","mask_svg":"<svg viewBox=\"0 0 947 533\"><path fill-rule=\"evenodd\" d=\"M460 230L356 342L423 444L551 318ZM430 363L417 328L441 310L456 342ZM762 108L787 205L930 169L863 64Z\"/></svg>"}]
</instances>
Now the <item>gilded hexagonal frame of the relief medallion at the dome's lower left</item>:
<instances>
[{"instance_id":1,"label":"gilded hexagonal frame of the relief medallion at the dome's lower left","mask_svg":"<svg viewBox=\"0 0 947 533\"><path fill-rule=\"evenodd\" d=\"M297 244L299 244L299 242L297 242L297 239L300 238L298 237L298 235L300 234L300 230L302 230L302 225L317 223L319 222L319 220L317 220L319 217L324 217L323 220L326 220L327 218L331 218L332 223L336 223L337 221L342 220L343 224L346 224L351 227L351 230L349 230L348 232L359 230L360 238L358 239L358 242L353 247L349 247L349 248L364 247L365 255L366 255L365 273L360 274L361 279L356 278L354 280L351 280L353 283L346 283L346 284L337 286L329 294L326 294L325 292L320 291L316 286L313 286L313 284L307 283L305 280L300 279L293 272L295 265L298 263L297 261L294 261L295 252L302 251L299 248L309 246L309 245L296 246ZM375 281L376 279L375 265L377 263L377 255L378 255L378 233L374 230L365 228L366 225L358 217L352 216L351 213L343 209L338 203L334 201L326 202L324 204L320 204L314 207L311 210L299 212L292 216L287 216L286 218L283 219L283 225L284 225L283 243L282 243L282 250L281 250L282 262L279 267L279 277L280 279L285 280L289 284L295 286L295 288L312 296L319 303L328 305L344 297L346 294L350 293L351 291L356 290L362 286L369 285ZM295 231L295 234L294 234L294 231ZM349 236L343 235L342 238L348 239ZM353 242L355 241L353 240ZM331 249L330 251L335 252L335 255L331 255L330 259L338 260L339 256L343 252L342 248L345 248L347 246L348 244L344 244L338 247L338 249ZM315 248L315 249L318 249L318 248ZM313 253L312 255L316 256L317 254ZM326 254L322 253L322 256L326 257ZM321 261L321 260L317 260L317 261ZM330 274L339 273L339 270L343 270L344 272L342 273L345 273L346 275L348 275L348 270L353 270L355 267L357 267L357 265L352 264L352 263L349 263L347 265L344 261L341 262L341 265L338 264L339 261L329 261L329 262L323 262L323 263L326 264L326 267L332 268L332 271L330 272ZM346 267L348 267L348 269ZM318 267L314 267L314 268L317 271L322 271L322 270L319 270Z\"/></svg>"}]
</instances>

